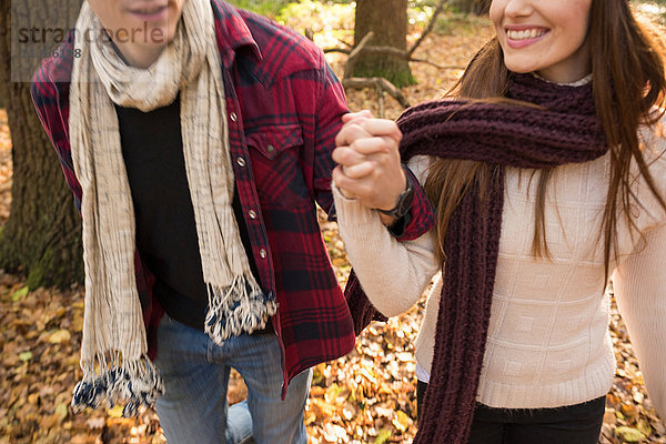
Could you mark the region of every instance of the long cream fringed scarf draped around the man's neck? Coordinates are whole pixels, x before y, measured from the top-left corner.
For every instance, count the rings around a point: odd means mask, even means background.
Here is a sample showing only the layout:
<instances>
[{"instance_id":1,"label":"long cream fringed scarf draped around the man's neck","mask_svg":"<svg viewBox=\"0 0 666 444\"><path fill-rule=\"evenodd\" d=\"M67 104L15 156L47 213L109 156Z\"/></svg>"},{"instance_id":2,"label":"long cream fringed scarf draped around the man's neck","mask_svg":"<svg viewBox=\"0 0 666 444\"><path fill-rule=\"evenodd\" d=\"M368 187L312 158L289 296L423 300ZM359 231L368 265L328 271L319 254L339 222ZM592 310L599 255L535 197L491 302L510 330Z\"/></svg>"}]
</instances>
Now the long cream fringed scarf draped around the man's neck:
<instances>
[{"instance_id":1,"label":"long cream fringed scarf draped around the man's neck","mask_svg":"<svg viewBox=\"0 0 666 444\"><path fill-rule=\"evenodd\" d=\"M91 32L88 32L91 31ZM263 329L275 314L254 280L232 210L233 170L225 124L220 54L209 0L188 0L174 40L148 69L128 67L87 2L77 22L81 57L70 92L70 140L83 191L85 312L83 380L72 405L127 402L125 415L163 393L147 357L134 279L134 212L113 103L154 110L181 94L181 125L203 279L209 289L204 330L216 343ZM91 41L92 40L92 41Z\"/></svg>"}]
</instances>

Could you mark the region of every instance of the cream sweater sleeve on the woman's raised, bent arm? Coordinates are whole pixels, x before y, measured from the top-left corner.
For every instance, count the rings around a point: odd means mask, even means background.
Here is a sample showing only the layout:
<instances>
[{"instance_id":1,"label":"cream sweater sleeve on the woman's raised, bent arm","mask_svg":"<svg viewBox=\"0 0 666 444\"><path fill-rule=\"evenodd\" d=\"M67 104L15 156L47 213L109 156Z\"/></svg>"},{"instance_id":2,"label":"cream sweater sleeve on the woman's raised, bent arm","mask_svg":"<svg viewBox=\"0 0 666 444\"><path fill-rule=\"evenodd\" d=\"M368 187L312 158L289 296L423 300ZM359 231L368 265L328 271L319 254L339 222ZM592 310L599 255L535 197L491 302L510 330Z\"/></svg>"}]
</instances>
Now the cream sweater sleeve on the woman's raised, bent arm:
<instances>
[{"instance_id":1,"label":"cream sweater sleeve on the woman's raised, bent arm","mask_svg":"<svg viewBox=\"0 0 666 444\"><path fill-rule=\"evenodd\" d=\"M423 158L415 158L410 168L421 180L424 169L420 163L424 163ZM376 211L344 198L336 186L333 196L340 235L365 294L387 316L407 311L438 270L433 232L398 242Z\"/></svg>"}]
</instances>

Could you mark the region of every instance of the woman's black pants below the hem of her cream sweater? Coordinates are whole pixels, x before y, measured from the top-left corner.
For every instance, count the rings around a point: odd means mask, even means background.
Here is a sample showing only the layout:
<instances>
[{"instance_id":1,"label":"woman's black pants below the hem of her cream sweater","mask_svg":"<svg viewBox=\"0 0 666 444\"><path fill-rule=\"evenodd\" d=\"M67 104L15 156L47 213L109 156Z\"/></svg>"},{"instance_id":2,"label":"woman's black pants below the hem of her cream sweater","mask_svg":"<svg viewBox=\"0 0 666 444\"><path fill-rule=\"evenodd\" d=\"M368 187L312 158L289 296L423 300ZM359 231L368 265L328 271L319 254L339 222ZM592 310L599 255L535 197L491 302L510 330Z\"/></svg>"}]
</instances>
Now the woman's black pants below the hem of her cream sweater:
<instances>
[{"instance_id":1,"label":"woman's black pants below the hem of her cream sweater","mask_svg":"<svg viewBox=\"0 0 666 444\"><path fill-rule=\"evenodd\" d=\"M416 385L421 412L427 384ZM606 396L556 408L492 408L477 404L468 444L597 444Z\"/></svg>"}]
</instances>

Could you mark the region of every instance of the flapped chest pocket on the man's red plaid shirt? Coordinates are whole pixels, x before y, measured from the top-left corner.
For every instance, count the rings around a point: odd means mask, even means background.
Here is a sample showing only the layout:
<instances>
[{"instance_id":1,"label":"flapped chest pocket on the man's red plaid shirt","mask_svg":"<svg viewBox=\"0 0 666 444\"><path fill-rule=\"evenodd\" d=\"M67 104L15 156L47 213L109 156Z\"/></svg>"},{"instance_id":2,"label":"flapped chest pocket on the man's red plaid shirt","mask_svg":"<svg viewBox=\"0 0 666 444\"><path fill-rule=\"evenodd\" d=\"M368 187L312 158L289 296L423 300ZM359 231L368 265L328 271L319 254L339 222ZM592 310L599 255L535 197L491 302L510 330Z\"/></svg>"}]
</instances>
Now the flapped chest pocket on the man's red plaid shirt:
<instances>
[{"instance_id":1,"label":"flapped chest pocket on the man's red plaid shirt","mask_svg":"<svg viewBox=\"0 0 666 444\"><path fill-rule=\"evenodd\" d=\"M299 124L265 125L245 135L256 192L263 208L303 206L310 189L303 174Z\"/></svg>"}]
</instances>

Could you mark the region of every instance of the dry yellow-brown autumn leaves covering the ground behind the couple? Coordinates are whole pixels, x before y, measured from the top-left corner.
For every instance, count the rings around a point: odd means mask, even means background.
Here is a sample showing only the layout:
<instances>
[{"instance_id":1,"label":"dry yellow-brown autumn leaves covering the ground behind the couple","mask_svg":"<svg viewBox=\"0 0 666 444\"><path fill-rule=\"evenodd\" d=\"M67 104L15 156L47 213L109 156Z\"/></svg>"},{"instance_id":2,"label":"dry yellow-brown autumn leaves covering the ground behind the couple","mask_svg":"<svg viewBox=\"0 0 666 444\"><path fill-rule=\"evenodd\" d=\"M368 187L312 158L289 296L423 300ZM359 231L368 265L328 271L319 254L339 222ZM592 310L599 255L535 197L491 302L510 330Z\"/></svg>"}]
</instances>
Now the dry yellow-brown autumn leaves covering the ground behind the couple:
<instances>
[{"instance_id":1,"label":"dry yellow-brown autumn leaves covering the ground behind the couple","mask_svg":"<svg viewBox=\"0 0 666 444\"><path fill-rule=\"evenodd\" d=\"M416 53L440 64L463 67L492 36L483 19L453 17L450 32L432 34ZM411 34L413 41L418 36ZM334 40L333 40L334 41ZM342 72L344 57L331 56ZM460 70L440 71L413 64L418 84L405 89L412 103L441 97ZM377 111L374 91L350 91L352 110ZM386 100L386 113L402 110ZM0 110L0 224L11 202L11 141L7 114ZM56 159L54 159L56 161ZM335 224L321 218L322 231L342 285L350 265ZM120 417L118 408L73 415L69 401L81 375L83 299L80 287L65 292L28 292L24 282L0 272L0 444L4 443L164 443L153 411L139 417ZM385 324L372 324L355 350L314 369L305 411L310 441L319 443L410 443L416 431L413 344L423 314L423 301L408 313ZM612 337L618 363L607 398L601 442L666 443L666 428L647 397L643 376L627 332L613 309ZM245 387L238 374L229 391L231 403L242 400Z\"/></svg>"}]
</instances>

